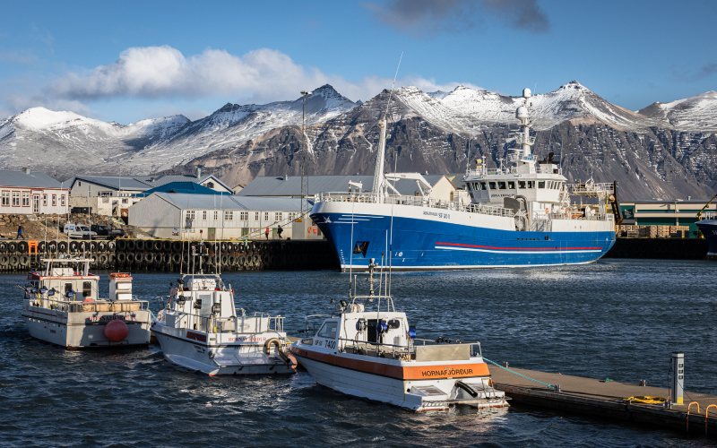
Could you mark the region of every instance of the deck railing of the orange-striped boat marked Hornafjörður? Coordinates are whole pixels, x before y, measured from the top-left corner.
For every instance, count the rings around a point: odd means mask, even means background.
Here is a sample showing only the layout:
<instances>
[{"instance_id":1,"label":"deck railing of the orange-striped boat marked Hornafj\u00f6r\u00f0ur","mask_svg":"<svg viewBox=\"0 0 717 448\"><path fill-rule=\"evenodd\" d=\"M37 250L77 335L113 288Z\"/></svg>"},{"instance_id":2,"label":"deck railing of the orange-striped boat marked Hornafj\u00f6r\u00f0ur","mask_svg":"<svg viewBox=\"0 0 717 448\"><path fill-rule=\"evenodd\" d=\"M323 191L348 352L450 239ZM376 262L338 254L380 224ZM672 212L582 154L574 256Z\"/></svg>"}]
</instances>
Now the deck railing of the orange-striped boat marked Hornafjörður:
<instances>
[{"instance_id":1,"label":"deck railing of the orange-striped boat marked Hornafj\u00f6r\u00f0ur","mask_svg":"<svg viewBox=\"0 0 717 448\"><path fill-rule=\"evenodd\" d=\"M482 357L480 342L459 340L412 339L406 344L387 344L367 340L339 338L341 351L376 358L414 361L441 361Z\"/></svg>"}]
</instances>

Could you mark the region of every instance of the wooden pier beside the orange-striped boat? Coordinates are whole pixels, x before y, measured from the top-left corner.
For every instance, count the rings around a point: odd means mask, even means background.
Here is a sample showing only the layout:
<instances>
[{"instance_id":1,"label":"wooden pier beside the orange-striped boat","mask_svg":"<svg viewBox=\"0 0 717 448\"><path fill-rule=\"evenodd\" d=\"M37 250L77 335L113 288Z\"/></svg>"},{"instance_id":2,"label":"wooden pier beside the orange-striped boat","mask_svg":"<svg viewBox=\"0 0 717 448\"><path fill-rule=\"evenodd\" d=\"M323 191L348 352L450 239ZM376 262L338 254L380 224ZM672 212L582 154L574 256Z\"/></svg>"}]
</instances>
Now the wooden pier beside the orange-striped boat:
<instances>
[{"instance_id":1,"label":"wooden pier beside the orange-striped boat","mask_svg":"<svg viewBox=\"0 0 717 448\"><path fill-rule=\"evenodd\" d=\"M669 390L661 387L605 382L514 367L507 371L490 366L490 374L495 387L504 391L512 403L661 426L690 435L717 438L717 396L714 395L686 391L684 404L672 405L668 409L664 404L626 400L643 396L669 399ZM706 416L705 411L708 413Z\"/></svg>"}]
</instances>

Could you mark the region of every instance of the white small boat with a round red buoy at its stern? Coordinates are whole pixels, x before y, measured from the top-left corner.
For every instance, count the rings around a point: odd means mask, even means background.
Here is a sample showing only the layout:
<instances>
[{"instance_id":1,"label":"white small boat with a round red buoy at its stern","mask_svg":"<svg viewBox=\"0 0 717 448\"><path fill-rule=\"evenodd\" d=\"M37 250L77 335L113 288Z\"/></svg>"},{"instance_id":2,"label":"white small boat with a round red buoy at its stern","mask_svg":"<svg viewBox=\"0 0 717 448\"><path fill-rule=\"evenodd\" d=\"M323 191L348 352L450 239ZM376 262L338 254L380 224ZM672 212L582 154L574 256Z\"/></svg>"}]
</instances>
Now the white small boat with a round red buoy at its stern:
<instances>
[{"instance_id":1,"label":"white small boat with a round red buoy at its stern","mask_svg":"<svg viewBox=\"0 0 717 448\"><path fill-rule=\"evenodd\" d=\"M22 317L30 335L67 349L147 345L148 302L132 297L132 276L109 274L109 298L98 298L99 276L90 258L48 258L43 271L31 271Z\"/></svg>"}]
</instances>

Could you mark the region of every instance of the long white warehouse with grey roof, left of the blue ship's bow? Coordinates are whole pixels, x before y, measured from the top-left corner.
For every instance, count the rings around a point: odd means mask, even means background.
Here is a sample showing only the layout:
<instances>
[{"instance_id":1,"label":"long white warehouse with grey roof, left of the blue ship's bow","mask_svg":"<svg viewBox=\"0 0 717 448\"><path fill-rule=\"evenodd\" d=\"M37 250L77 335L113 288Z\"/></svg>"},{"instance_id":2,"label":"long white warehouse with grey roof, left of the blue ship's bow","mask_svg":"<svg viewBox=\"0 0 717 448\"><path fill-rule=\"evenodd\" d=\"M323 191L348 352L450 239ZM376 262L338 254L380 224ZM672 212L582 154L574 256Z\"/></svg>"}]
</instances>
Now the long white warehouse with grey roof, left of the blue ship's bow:
<instances>
[{"instance_id":1,"label":"long white warehouse with grey roof, left of the blue ship's bow","mask_svg":"<svg viewBox=\"0 0 717 448\"><path fill-rule=\"evenodd\" d=\"M307 202L281 197L154 193L129 209L129 224L152 237L198 239L321 239L311 220L298 220Z\"/></svg>"}]
</instances>

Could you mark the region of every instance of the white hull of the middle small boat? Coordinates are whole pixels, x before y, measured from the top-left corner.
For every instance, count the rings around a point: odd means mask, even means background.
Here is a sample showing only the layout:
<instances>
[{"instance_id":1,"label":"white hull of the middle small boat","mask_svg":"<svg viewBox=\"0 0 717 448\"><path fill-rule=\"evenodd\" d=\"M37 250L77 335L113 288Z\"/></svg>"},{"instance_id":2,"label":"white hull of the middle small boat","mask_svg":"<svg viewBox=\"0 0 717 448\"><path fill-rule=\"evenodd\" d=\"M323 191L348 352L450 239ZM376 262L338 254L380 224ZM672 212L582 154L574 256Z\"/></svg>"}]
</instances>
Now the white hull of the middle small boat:
<instances>
[{"instance_id":1,"label":"white hull of the middle small boat","mask_svg":"<svg viewBox=\"0 0 717 448\"><path fill-rule=\"evenodd\" d=\"M193 332L154 323L151 332L169 362L206 375L290 375L290 359L264 352L262 344L212 343L220 333ZM207 343L209 338L209 342Z\"/></svg>"}]
</instances>

